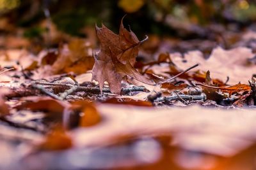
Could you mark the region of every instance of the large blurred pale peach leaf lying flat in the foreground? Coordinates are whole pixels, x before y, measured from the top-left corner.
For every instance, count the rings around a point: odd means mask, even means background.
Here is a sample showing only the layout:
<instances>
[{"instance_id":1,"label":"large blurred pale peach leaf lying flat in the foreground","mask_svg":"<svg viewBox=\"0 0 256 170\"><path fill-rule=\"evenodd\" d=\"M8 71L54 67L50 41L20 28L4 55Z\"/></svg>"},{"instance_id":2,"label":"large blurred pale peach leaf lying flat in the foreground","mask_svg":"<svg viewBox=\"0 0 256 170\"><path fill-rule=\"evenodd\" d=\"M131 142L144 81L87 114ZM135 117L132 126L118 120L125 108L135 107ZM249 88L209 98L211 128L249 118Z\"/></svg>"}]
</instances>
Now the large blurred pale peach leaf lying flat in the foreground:
<instances>
[{"instance_id":1,"label":"large blurred pale peach leaf lying flat in the foreground","mask_svg":"<svg viewBox=\"0 0 256 170\"><path fill-rule=\"evenodd\" d=\"M120 135L135 138L169 134L172 146L232 157L256 141L253 110L212 110L200 106L143 108L113 104L100 104L97 109L104 117L104 124L72 131L74 147L106 146L118 142L115 139Z\"/></svg>"}]
</instances>

